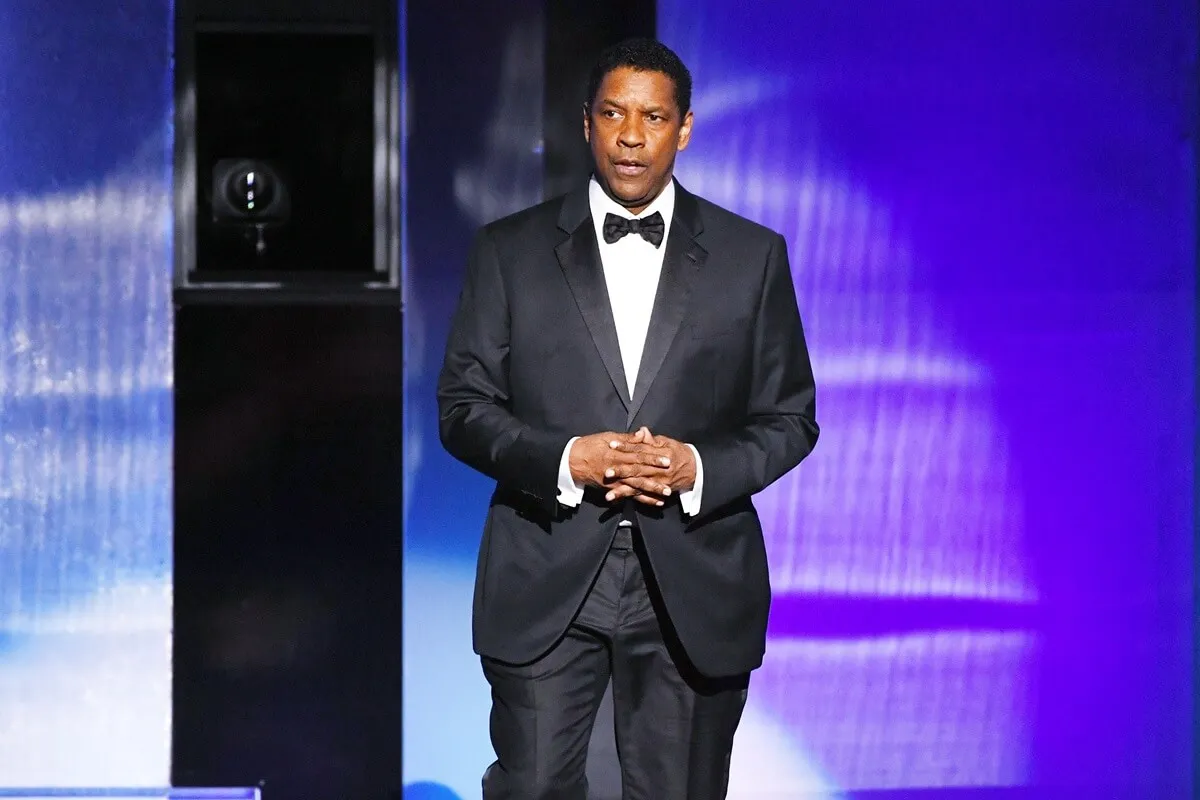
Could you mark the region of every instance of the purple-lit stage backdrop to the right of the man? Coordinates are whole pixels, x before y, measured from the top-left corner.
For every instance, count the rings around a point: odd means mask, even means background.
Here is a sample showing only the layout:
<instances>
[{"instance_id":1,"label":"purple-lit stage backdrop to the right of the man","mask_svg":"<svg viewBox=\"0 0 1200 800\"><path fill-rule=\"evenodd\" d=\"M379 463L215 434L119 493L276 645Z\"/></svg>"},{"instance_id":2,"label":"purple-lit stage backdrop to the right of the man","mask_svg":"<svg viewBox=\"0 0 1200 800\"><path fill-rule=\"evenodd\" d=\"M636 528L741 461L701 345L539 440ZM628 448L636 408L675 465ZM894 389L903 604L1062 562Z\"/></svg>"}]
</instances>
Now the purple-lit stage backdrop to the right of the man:
<instances>
[{"instance_id":1,"label":"purple-lit stage backdrop to the right of the man","mask_svg":"<svg viewBox=\"0 0 1200 800\"><path fill-rule=\"evenodd\" d=\"M785 234L817 374L751 703L844 789L1188 796L1192 7L659 22L679 178Z\"/></svg>"}]
</instances>

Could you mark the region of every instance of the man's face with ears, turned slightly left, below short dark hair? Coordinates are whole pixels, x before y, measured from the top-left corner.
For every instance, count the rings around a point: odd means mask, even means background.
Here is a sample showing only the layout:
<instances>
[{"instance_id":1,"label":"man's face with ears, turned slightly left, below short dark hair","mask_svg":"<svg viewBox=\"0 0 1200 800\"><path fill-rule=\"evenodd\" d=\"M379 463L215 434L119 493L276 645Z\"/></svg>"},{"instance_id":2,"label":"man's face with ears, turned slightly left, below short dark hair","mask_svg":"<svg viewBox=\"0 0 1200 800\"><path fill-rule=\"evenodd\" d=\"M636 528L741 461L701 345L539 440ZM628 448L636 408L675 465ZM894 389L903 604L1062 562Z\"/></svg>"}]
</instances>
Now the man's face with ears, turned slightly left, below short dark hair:
<instances>
[{"instance_id":1,"label":"man's face with ears, turned slightly left, below short dark hair","mask_svg":"<svg viewBox=\"0 0 1200 800\"><path fill-rule=\"evenodd\" d=\"M674 169L691 138L691 112L676 106L674 82L661 72L618 67L605 76L583 136L592 145L596 179L610 197L641 213Z\"/></svg>"}]
</instances>

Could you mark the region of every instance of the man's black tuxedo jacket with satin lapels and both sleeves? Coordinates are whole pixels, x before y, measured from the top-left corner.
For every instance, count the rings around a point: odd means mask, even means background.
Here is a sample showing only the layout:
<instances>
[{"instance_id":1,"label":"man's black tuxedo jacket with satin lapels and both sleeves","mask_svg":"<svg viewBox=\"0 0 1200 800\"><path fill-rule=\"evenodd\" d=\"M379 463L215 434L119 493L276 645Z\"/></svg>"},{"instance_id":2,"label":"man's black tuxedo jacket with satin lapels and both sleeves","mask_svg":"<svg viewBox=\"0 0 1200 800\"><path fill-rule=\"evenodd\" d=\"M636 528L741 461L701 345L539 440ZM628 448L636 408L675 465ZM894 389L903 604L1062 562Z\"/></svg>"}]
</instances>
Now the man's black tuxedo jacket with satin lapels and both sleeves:
<instances>
[{"instance_id":1,"label":"man's black tuxedo jacket with satin lapels and both sleeves","mask_svg":"<svg viewBox=\"0 0 1200 800\"><path fill-rule=\"evenodd\" d=\"M812 369L784 239L677 185L629 396L587 187L482 228L438 380L440 435L497 489L475 579L476 652L533 661L565 632L622 515L636 515L692 664L762 663L770 585L750 498L817 440ZM636 431L695 445L700 513L557 501L571 437ZM446 498L454 501L452 498Z\"/></svg>"}]
</instances>

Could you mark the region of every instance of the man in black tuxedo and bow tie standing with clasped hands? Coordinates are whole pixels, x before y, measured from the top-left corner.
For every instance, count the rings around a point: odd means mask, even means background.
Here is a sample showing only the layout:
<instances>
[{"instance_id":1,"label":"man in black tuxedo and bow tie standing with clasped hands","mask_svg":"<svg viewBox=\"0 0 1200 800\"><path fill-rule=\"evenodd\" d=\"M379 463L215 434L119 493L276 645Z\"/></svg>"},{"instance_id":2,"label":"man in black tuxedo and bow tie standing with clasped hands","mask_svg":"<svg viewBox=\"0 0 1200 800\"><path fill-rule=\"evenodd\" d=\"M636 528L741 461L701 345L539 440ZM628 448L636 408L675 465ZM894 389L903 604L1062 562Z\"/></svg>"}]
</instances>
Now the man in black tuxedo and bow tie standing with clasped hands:
<instances>
[{"instance_id":1,"label":"man in black tuxedo and bow tie standing with clasped hands","mask_svg":"<svg viewBox=\"0 0 1200 800\"><path fill-rule=\"evenodd\" d=\"M612 681L628 800L724 798L770 587L751 495L817 440L784 239L672 178L691 77L607 50L586 186L486 225L438 384L497 481L475 581L488 800L584 798Z\"/></svg>"}]
</instances>

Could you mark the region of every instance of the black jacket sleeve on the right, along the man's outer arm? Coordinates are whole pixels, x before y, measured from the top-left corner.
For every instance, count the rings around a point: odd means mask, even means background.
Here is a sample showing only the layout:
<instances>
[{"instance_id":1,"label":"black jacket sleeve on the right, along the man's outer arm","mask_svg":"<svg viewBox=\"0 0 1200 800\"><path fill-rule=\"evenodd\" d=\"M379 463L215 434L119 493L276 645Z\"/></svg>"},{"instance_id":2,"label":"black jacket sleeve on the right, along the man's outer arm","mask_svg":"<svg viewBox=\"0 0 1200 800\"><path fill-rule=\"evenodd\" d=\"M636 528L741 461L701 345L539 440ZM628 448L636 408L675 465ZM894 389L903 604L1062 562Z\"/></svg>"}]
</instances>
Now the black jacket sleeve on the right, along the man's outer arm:
<instances>
[{"instance_id":1,"label":"black jacket sleeve on the right, along the man's outer arm","mask_svg":"<svg viewBox=\"0 0 1200 800\"><path fill-rule=\"evenodd\" d=\"M752 359L743 425L694 443L704 462L701 516L774 483L812 452L820 433L787 243L779 235L767 255Z\"/></svg>"}]
</instances>

